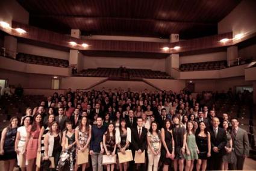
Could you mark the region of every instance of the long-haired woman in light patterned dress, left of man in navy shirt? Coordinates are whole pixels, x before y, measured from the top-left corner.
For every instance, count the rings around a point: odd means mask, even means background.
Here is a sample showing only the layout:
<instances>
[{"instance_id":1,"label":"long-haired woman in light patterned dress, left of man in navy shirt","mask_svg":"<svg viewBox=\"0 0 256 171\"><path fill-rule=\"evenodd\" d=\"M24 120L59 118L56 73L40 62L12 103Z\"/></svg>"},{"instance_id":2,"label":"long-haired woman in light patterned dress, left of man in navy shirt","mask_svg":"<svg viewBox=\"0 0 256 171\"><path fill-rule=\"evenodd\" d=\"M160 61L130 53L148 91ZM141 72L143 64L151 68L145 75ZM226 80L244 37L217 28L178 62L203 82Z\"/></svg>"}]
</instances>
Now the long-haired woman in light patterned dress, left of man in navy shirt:
<instances>
[{"instance_id":1,"label":"long-haired woman in light patterned dress, left of man in navy shirt","mask_svg":"<svg viewBox=\"0 0 256 171\"><path fill-rule=\"evenodd\" d=\"M87 117L83 116L81 118L81 123L75 130L75 141L76 141L76 154L78 151L86 151L89 148L89 143L92 137L92 126L87 122ZM76 156L77 158L77 156ZM86 163L81 164L82 171L86 170ZM77 160L75 163L75 171L78 170Z\"/></svg>"}]
</instances>

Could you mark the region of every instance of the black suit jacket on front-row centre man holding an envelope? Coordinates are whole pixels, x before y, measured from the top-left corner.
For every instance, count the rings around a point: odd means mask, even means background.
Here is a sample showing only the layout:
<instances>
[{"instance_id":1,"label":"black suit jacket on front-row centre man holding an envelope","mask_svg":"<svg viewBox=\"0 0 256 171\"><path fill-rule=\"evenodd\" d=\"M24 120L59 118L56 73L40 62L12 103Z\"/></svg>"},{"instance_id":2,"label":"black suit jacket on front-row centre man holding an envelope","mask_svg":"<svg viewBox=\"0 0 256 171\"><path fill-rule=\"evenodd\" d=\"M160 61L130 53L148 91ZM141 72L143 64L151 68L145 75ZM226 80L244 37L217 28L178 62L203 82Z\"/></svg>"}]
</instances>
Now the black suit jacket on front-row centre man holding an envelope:
<instances>
[{"instance_id":1,"label":"black suit jacket on front-row centre man holding an envelope","mask_svg":"<svg viewBox=\"0 0 256 171\"><path fill-rule=\"evenodd\" d=\"M146 140L146 134L147 134L147 129L142 127L142 134L140 135L139 137L139 132L138 132L138 129L137 129L137 126L136 128L133 128L132 129L132 132L131 132L131 149L133 151L138 151L139 149L143 152L144 150L146 150L146 143L147 143L147 140Z\"/></svg>"}]
</instances>

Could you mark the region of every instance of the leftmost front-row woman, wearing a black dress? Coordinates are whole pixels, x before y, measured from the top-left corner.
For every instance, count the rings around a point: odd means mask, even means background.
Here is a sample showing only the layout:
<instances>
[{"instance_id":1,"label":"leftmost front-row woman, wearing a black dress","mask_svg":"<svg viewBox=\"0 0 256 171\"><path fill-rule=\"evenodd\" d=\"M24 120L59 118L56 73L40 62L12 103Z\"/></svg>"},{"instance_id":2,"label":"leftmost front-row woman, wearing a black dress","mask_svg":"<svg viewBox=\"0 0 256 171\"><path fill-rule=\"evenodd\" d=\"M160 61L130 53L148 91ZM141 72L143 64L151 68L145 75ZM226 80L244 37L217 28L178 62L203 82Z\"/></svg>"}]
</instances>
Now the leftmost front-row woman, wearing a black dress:
<instances>
[{"instance_id":1,"label":"leftmost front-row woman, wearing a black dress","mask_svg":"<svg viewBox=\"0 0 256 171\"><path fill-rule=\"evenodd\" d=\"M3 170L13 170L17 154L14 150L14 144L17 134L17 126L19 119L17 116L11 117L10 125L4 128L1 136L0 155L1 160L4 160Z\"/></svg>"}]
</instances>

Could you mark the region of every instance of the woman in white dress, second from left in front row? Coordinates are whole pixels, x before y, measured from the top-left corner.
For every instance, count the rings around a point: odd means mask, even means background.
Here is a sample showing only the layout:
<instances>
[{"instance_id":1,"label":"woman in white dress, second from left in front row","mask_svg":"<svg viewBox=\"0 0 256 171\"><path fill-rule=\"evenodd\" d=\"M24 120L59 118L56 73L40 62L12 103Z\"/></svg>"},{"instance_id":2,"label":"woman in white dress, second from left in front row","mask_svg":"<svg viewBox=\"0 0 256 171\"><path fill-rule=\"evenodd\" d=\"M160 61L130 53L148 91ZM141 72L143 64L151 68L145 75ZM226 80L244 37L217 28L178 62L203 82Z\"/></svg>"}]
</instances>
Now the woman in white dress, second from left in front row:
<instances>
[{"instance_id":1,"label":"woman in white dress, second from left in front row","mask_svg":"<svg viewBox=\"0 0 256 171\"><path fill-rule=\"evenodd\" d=\"M23 117L23 126L17 128L17 135L15 140L15 151L17 153L17 164L20 169L26 170L26 155L25 155L25 143L27 138L28 126L31 125L32 116L24 116Z\"/></svg>"}]
</instances>

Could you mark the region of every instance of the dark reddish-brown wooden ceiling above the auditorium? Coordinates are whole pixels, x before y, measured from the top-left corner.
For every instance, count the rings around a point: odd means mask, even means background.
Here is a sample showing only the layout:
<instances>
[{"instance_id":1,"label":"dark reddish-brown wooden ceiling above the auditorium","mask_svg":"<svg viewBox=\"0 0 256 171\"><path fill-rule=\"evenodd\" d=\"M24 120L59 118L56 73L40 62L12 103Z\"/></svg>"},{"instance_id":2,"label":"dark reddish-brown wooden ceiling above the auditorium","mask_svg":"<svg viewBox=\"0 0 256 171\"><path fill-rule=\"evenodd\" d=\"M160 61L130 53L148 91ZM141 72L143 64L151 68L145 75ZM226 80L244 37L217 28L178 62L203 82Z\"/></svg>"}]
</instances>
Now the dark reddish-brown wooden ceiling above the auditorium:
<instances>
[{"instance_id":1,"label":"dark reddish-brown wooden ceiling above the auditorium","mask_svg":"<svg viewBox=\"0 0 256 171\"><path fill-rule=\"evenodd\" d=\"M192 39L217 34L217 22L241 0L17 0L30 25L70 34Z\"/></svg>"}]
</instances>

